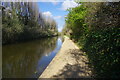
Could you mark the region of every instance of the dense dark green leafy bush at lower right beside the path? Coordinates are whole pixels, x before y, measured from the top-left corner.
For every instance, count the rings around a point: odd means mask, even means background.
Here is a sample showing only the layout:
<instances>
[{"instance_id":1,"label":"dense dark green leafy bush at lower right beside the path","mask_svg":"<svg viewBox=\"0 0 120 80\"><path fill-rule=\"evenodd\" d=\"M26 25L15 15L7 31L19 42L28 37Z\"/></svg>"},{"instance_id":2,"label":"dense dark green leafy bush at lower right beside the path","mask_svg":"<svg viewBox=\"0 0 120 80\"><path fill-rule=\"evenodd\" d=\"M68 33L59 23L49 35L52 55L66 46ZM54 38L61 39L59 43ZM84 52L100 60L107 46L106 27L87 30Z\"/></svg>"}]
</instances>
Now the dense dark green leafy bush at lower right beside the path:
<instances>
[{"instance_id":1,"label":"dense dark green leafy bush at lower right beside the path","mask_svg":"<svg viewBox=\"0 0 120 80\"><path fill-rule=\"evenodd\" d=\"M120 28L89 32L84 44L97 77L120 77Z\"/></svg>"}]
</instances>

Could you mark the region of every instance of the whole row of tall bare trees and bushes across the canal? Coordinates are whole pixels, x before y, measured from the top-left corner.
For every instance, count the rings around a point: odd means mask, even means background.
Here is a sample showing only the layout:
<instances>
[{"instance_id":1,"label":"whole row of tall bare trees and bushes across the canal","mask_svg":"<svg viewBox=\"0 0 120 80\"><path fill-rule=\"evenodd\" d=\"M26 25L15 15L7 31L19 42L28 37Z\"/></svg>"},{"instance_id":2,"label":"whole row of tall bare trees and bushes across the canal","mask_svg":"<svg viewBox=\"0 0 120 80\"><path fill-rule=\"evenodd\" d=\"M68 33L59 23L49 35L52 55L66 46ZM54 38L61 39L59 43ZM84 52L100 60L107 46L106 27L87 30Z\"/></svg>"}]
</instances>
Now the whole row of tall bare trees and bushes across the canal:
<instances>
[{"instance_id":1,"label":"whole row of tall bare trees and bushes across the canal","mask_svg":"<svg viewBox=\"0 0 120 80\"><path fill-rule=\"evenodd\" d=\"M45 17L36 2L3 2L2 43L57 35L54 19Z\"/></svg>"}]
</instances>

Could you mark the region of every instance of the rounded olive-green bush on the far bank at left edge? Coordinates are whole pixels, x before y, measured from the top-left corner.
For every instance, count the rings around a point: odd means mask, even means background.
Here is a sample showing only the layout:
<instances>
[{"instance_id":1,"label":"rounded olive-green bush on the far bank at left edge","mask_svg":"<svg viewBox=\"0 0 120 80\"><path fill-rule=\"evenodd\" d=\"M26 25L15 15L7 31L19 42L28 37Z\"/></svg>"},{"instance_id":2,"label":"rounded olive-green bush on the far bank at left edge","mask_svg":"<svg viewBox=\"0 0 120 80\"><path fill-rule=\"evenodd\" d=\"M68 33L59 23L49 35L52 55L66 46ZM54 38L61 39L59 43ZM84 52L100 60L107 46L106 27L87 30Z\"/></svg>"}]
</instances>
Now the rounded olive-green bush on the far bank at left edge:
<instances>
[{"instance_id":1,"label":"rounded olive-green bush on the far bank at left edge","mask_svg":"<svg viewBox=\"0 0 120 80\"><path fill-rule=\"evenodd\" d=\"M3 11L3 16L5 12ZM15 10L12 11L12 18L5 16L2 18L2 34L3 34L3 43L4 42L13 42L16 40L18 35L23 32L23 27L19 22L15 14ZM8 21L9 20L9 21Z\"/></svg>"}]
</instances>

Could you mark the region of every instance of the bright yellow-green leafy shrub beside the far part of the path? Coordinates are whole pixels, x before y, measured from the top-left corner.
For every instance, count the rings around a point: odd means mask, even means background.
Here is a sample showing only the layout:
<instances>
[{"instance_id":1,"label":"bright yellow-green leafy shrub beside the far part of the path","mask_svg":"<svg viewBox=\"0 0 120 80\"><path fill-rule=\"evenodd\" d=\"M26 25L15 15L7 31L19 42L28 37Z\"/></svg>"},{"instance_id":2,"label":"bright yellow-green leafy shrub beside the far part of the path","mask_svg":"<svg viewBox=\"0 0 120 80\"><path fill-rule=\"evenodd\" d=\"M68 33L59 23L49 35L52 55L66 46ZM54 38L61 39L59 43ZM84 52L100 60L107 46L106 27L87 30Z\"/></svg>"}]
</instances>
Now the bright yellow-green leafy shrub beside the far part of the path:
<instances>
[{"instance_id":1,"label":"bright yellow-green leafy shrub beside the far part of the path","mask_svg":"<svg viewBox=\"0 0 120 80\"><path fill-rule=\"evenodd\" d=\"M86 14L86 8L83 5L78 6L73 9L69 9L69 14L66 18L67 27L72 30L71 37L77 39L81 37L86 24L84 23L84 18Z\"/></svg>"}]
</instances>

